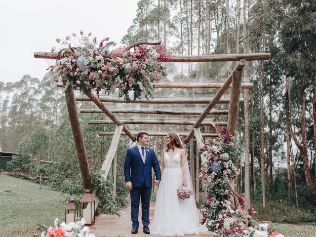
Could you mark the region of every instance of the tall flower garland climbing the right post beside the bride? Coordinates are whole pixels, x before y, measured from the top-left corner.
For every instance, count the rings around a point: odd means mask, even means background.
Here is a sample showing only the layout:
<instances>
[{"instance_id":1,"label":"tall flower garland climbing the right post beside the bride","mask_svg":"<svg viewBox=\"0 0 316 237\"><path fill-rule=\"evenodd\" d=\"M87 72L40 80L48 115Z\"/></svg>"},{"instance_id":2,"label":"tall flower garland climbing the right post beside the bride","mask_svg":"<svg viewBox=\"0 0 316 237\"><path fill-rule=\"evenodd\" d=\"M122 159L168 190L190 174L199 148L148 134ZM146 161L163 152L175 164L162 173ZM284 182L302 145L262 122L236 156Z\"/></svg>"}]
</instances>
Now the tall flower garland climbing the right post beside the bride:
<instances>
[{"instance_id":1,"label":"tall flower garland climbing the right post beside the bride","mask_svg":"<svg viewBox=\"0 0 316 237\"><path fill-rule=\"evenodd\" d=\"M251 215L253 208L244 210L244 194L238 195L232 182L239 174L235 164L239 163L237 144L226 128L218 128L221 136L209 140L199 148L204 156L199 177L206 186L206 202L202 205L204 224L208 230L215 231L220 237L283 237L268 230L268 224L258 224ZM234 201L235 207L232 201Z\"/></svg>"}]
</instances>

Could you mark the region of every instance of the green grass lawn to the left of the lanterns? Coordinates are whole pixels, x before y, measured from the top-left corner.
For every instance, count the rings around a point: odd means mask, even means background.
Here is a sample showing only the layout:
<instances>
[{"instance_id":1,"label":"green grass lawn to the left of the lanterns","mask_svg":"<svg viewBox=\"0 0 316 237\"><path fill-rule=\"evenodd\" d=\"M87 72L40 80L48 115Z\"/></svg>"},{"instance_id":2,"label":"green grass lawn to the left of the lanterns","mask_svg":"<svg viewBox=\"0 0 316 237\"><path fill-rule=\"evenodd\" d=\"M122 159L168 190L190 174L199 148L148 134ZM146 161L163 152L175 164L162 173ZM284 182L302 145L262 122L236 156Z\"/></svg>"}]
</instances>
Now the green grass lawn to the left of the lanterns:
<instances>
[{"instance_id":1,"label":"green grass lawn to the left of the lanterns","mask_svg":"<svg viewBox=\"0 0 316 237\"><path fill-rule=\"evenodd\" d=\"M3 192L10 189L11 193ZM0 174L0 237L33 237L38 225L51 226L64 220L61 193L32 181Z\"/></svg>"}]
</instances>

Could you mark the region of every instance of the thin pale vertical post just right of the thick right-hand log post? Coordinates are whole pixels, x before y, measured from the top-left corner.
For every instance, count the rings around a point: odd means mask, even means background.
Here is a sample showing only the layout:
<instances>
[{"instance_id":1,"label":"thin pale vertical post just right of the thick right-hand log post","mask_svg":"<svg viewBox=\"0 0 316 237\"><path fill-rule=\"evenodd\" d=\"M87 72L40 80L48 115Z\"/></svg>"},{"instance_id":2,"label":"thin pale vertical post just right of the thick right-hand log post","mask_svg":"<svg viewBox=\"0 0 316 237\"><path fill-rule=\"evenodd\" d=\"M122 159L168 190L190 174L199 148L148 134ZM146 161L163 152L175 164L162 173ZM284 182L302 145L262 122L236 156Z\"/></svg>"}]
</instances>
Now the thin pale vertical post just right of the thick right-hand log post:
<instances>
[{"instance_id":1,"label":"thin pale vertical post just right of the thick right-hand log post","mask_svg":"<svg viewBox=\"0 0 316 237\"><path fill-rule=\"evenodd\" d=\"M245 110L245 210L250 207L250 181L249 181L249 90L244 91ZM242 179L242 177L241 177Z\"/></svg>"}]
</instances>

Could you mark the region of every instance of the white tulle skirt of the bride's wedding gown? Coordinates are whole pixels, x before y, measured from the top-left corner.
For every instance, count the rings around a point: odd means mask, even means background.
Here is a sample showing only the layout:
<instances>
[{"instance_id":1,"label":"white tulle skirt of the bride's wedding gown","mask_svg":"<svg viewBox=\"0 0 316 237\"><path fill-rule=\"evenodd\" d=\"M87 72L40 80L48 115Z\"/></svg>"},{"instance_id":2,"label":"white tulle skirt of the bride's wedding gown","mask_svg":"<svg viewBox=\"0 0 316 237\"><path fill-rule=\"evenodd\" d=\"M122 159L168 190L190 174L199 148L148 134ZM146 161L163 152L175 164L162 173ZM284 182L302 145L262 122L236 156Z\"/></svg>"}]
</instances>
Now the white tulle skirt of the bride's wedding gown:
<instances>
[{"instance_id":1,"label":"white tulle skirt of the bride's wedding gown","mask_svg":"<svg viewBox=\"0 0 316 237\"><path fill-rule=\"evenodd\" d=\"M184 236L207 232L199 224L195 199L180 199L177 190L181 188L181 168L165 168L156 197L155 213L150 234L160 236Z\"/></svg>"}]
</instances>

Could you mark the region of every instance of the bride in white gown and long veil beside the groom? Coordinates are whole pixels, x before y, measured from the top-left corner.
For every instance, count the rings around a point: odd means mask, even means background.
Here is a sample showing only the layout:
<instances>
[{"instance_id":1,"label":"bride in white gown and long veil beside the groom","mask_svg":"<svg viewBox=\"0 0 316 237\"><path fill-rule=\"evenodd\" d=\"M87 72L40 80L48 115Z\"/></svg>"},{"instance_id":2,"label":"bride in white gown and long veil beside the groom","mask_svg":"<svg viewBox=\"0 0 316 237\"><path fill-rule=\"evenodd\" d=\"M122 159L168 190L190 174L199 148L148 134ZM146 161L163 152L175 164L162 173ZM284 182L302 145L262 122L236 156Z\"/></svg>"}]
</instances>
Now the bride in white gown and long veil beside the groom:
<instances>
[{"instance_id":1,"label":"bride in white gown and long veil beside the groom","mask_svg":"<svg viewBox=\"0 0 316 237\"><path fill-rule=\"evenodd\" d=\"M207 228L199 224L194 195L188 199L177 195L183 186L193 191L187 154L178 134L170 132L166 144L161 156L162 176L150 234L184 236L207 232Z\"/></svg>"}]
</instances>

